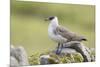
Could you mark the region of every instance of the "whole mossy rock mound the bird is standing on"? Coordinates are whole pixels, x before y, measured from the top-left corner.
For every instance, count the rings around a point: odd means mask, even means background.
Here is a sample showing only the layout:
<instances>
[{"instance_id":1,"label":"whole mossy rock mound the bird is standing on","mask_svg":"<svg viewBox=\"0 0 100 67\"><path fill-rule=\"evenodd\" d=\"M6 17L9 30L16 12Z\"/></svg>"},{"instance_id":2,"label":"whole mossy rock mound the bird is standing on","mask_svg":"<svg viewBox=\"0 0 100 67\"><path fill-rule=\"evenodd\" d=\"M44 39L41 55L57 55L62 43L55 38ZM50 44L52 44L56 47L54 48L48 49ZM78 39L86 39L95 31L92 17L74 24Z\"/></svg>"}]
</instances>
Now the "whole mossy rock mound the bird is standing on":
<instances>
[{"instance_id":1,"label":"whole mossy rock mound the bird is standing on","mask_svg":"<svg viewBox=\"0 0 100 67\"><path fill-rule=\"evenodd\" d=\"M60 64L60 63L79 63L95 61L94 49L84 46L83 43L72 41L63 44L60 54L56 54L56 50L44 52L38 55L32 54L30 56L31 65L46 65L46 64Z\"/></svg>"}]
</instances>

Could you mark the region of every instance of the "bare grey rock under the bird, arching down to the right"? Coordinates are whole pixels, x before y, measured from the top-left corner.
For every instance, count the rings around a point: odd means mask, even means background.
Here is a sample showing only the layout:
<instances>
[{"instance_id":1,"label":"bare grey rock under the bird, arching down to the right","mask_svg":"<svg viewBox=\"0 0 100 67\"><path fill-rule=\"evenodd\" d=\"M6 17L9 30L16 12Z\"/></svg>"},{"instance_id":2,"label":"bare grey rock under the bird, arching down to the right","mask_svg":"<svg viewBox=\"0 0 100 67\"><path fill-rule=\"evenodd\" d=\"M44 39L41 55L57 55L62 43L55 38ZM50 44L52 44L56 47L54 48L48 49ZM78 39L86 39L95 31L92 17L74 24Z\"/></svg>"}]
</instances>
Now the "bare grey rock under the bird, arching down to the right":
<instances>
[{"instance_id":1,"label":"bare grey rock under the bird, arching down to the right","mask_svg":"<svg viewBox=\"0 0 100 67\"><path fill-rule=\"evenodd\" d=\"M61 48L59 48L61 49ZM72 54L72 53L80 53L83 58L84 58L84 62L90 62L91 61L91 56L90 56L90 50L84 46L82 43L78 42L78 41L71 41L68 43L64 43L63 44L63 48L61 50L61 54Z\"/></svg>"}]
</instances>

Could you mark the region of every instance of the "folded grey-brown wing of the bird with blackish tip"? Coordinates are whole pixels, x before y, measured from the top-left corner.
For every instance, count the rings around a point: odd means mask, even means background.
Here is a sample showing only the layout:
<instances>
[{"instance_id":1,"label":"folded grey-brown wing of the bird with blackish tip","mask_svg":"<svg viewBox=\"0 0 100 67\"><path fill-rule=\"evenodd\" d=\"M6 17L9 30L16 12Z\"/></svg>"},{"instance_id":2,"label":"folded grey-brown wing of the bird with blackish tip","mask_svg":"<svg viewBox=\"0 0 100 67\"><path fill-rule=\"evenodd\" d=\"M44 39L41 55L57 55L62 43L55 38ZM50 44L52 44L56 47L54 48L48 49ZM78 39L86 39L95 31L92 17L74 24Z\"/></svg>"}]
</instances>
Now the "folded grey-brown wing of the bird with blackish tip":
<instances>
[{"instance_id":1,"label":"folded grey-brown wing of the bird with blackish tip","mask_svg":"<svg viewBox=\"0 0 100 67\"><path fill-rule=\"evenodd\" d=\"M62 37L68 39L68 41L76 40L76 41L86 41L87 39L83 36L77 35L76 33L69 31L67 28L58 26L56 28L56 33L61 35Z\"/></svg>"}]
</instances>

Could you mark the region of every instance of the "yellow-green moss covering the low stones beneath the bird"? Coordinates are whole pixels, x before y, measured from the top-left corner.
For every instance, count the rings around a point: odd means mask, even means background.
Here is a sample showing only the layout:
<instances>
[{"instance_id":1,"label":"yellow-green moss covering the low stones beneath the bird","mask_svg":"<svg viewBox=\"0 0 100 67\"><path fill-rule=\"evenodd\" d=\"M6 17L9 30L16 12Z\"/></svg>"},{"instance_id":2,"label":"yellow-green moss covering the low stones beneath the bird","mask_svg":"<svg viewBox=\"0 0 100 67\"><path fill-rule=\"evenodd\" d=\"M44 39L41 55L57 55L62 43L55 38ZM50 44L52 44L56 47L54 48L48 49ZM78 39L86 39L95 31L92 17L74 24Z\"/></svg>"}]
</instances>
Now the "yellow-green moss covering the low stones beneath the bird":
<instances>
[{"instance_id":1,"label":"yellow-green moss covering the low stones beneath the bird","mask_svg":"<svg viewBox=\"0 0 100 67\"><path fill-rule=\"evenodd\" d=\"M73 53L73 54L66 54L66 55L56 55L51 52L44 52L44 53L33 53L29 57L29 63L30 65L39 65L39 57L41 55L50 55L50 58L48 58L48 61L50 64L61 64L61 63L79 63L83 62L84 58L80 53ZM91 53L91 56L95 56L95 52Z\"/></svg>"}]
</instances>

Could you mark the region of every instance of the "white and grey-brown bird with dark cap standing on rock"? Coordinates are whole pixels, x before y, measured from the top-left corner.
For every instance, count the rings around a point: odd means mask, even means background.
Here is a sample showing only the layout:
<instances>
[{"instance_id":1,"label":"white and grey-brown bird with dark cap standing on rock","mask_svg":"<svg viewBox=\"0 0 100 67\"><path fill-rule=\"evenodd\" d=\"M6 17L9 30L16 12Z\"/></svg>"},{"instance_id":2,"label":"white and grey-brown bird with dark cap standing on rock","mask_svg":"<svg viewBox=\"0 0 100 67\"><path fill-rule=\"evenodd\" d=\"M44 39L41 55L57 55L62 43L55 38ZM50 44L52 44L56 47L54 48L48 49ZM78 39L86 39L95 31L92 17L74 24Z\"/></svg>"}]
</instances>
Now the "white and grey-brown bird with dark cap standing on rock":
<instances>
[{"instance_id":1,"label":"white and grey-brown bird with dark cap standing on rock","mask_svg":"<svg viewBox=\"0 0 100 67\"><path fill-rule=\"evenodd\" d=\"M45 21L49 21L48 26L48 35L49 38L58 43L58 47L56 50L56 54L60 54L63 43L71 42L71 41L87 41L84 36L80 36L75 32L70 31L68 28L65 28L59 25L57 16L50 16L45 18ZM61 47L61 50L59 48Z\"/></svg>"}]
</instances>

